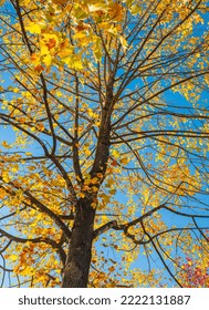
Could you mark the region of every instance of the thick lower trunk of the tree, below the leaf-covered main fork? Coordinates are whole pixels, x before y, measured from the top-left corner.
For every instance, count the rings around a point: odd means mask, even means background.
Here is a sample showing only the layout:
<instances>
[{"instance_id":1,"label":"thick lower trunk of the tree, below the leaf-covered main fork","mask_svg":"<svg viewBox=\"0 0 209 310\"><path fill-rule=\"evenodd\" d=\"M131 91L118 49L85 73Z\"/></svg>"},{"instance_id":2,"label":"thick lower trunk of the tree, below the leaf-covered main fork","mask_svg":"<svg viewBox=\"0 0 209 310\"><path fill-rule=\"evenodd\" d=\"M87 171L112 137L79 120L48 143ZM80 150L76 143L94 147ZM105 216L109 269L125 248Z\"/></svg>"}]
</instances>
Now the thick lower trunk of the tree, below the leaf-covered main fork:
<instances>
[{"instance_id":1,"label":"thick lower trunk of the tree, below the leaf-covered main fork","mask_svg":"<svg viewBox=\"0 0 209 310\"><path fill-rule=\"evenodd\" d=\"M62 275L62 288L86 288L92 258L95 210L92 200L82 198L76 208L67 258Z\"/></svg>"}]
</instances>

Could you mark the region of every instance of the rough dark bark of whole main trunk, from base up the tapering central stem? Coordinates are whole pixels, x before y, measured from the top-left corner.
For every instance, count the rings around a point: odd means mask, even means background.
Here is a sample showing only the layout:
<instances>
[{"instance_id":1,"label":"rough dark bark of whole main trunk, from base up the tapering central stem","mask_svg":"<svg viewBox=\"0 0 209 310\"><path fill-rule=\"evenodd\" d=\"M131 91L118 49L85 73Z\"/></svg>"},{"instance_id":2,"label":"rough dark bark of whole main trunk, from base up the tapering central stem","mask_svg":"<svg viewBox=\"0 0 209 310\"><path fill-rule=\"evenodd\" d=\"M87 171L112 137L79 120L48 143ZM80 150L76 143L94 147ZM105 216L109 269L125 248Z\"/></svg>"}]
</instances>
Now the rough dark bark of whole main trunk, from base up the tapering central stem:
<instances>
[{"instance_id":1,"label":"rough dark bark of whole main trunk, from base up the tapering central stem","mask_svg":"<svg viewBox=\"0 0 209 310\"><path fill-rule=\"evenodd\" d=\"M102 111L102 122L98 133L97 147L93 167L90 172L91 177L103 175L97 189L105 178L107 161L109 156L111 136L111 111L113 108L113 79L106 89L106 101ZM79 200L76 215L72 229L72 237L69 246L69 254L63 269L63 288L86 288L92 258L92 242L94 238L94 217L95 209L91 207L96 193L85 193L85 198Z\"/></svg>"}]
</instances>

